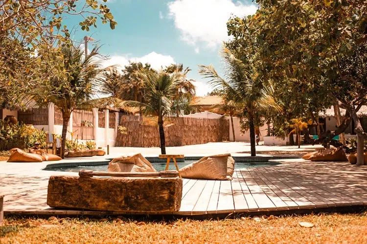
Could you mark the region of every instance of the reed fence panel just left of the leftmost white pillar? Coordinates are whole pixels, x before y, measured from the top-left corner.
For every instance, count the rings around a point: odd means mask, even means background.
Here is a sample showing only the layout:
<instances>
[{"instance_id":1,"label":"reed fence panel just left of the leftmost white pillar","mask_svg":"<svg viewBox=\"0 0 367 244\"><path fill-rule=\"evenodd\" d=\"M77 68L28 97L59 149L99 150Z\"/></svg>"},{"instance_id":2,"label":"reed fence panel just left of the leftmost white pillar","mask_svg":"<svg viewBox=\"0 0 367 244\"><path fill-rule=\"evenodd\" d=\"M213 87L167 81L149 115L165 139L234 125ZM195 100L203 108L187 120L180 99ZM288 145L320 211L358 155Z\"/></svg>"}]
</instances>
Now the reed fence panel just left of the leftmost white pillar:
<instances>
[{"instance_id":1,"label":"reed fence panel just left of the leftmost white pillar","mask_svg":"<svg viewBox=\"0 0 367 244\"><path fill-rule=\"evenodd\" d=\"M48 125L48 110L33 109L18 111L18 121L23 124Z\"/></svg>"}]
</instances>

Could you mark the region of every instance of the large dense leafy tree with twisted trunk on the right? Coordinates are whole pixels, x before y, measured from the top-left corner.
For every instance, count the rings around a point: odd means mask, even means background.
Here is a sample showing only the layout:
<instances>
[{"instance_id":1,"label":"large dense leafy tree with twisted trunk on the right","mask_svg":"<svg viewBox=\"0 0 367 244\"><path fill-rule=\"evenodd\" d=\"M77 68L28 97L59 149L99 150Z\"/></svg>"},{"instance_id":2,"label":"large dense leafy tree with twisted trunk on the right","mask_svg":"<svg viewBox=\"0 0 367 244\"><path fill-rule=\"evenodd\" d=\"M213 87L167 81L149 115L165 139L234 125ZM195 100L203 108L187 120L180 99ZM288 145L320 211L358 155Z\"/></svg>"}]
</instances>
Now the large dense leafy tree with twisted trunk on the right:
<instances>
[{"instance_id":1,"label":"large dense leafy tree with twisted trunk on the right","mask_svg":"<svg viewBox=\"0 0 367 244\"><path fill-rule=\"evenodd\" d=\"M275 89L278 84L291 81L303 86L305 92L320 91L319 97L328 97L327 100L346 109L344 119L338 118L339 128L333 133L321 133L318 141L328 145L334 135L347 128L352 117L363 150L362 141L367 134L359 126L356 110L366 104L366 93L364 89L353 90L363 84L343 74L339 61L351 57L367 40L366 1L257 2L260 8L255 15L229 20L228 33L234 37L229 45L252 55L260 75L273 80ZM343 84L335 82L337 77ZM363 164L363 153L357 161Z\"/></svg>"}]
</instances>

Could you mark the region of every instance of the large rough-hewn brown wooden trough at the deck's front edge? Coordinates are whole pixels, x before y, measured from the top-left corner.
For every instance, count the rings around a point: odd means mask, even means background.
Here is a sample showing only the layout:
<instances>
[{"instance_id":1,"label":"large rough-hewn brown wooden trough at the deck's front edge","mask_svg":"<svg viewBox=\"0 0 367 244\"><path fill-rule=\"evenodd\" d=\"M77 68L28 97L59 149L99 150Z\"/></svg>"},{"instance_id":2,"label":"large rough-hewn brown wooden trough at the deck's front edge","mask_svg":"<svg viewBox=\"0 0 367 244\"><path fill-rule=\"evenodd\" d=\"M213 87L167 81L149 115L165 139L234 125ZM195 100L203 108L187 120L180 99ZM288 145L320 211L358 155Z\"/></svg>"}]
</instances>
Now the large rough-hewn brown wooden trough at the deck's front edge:
<instances>
[{"instance_id":1,"label":"large rough-hewn brown wooden trough at the deck's front edge","mask_svg":"<svg viewBox=\"0 0 367 244\"><path fill-rule=\"evenodd\" d=\"M47 205L54 208L127 213L164 213L180 209L182 178L177 171L93 172L79 177L51 176Z\"/></svg>"}]
</instances>

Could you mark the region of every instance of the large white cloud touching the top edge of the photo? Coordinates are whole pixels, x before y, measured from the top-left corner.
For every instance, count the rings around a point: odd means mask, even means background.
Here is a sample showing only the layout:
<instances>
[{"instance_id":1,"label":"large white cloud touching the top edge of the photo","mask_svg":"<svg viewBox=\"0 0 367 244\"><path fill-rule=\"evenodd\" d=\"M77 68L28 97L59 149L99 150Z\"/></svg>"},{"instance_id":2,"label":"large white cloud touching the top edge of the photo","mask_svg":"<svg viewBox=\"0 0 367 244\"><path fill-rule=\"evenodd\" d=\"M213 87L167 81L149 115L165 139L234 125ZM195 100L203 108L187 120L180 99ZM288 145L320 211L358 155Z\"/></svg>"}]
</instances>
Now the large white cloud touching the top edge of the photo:
<instances>
[{"instance_id":1,"label":"large white cloud touching the top edge of the photo","mask_svg":"<svg viewBox=\"0 0 367 244\"><path fill-rule=\"evenodd\" d=\"M231 14L252 15L257 6L232 0L174 0L168 3L168 9L185 42L191 45L203 42L215 47L228 40L227 21Z\"/></svg>"}]
</instances>

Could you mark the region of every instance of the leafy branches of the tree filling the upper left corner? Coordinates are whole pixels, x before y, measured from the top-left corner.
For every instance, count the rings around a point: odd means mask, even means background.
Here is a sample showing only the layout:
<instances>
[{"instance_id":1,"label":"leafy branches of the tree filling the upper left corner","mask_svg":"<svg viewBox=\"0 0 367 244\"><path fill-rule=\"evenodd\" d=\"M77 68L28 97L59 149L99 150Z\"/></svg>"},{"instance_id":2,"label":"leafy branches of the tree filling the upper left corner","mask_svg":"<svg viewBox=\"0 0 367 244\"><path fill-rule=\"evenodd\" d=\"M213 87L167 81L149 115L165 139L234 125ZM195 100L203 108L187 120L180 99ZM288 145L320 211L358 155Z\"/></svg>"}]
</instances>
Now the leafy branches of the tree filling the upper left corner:
<instances>
[{"instance_id":1,"label":"leafy branches of the tree filling the upper left corner","mask_svg":"<svg viewBox=\"0 0 367 244\"><path fill-rule=\"evenodd\" d=\"M72 45L63 25L68 15L83 16L79 26L86 31L97 27L97 18L112 29L117 24L110 9L96 0L0 0L0 107L22 108L21 94L48 78L48 67L62 55L53 47Z\"/></svg>"}]
</instances>

